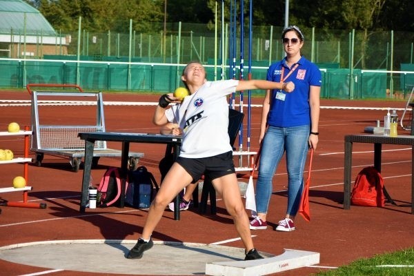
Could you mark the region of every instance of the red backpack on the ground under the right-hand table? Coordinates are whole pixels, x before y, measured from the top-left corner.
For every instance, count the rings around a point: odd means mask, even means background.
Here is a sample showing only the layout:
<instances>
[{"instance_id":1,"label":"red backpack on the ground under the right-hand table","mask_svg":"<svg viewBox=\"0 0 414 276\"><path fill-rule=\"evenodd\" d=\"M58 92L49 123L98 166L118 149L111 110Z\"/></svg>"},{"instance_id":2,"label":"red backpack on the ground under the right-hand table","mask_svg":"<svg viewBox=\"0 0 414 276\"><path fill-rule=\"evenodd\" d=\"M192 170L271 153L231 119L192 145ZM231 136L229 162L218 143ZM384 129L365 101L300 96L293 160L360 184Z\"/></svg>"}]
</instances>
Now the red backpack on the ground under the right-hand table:
<instances>
[{"instance_id":1,"label":"red backpack on the ground under the right-hand table","mask_svg":"<svg viewBox=\"0 0 414 276\"><path fill-rule=\"evenodd\" d=\"M351 204L368 207L384 207L384 180L374 167L362 169L355 179Z\"/></svg>"}]
</instances>

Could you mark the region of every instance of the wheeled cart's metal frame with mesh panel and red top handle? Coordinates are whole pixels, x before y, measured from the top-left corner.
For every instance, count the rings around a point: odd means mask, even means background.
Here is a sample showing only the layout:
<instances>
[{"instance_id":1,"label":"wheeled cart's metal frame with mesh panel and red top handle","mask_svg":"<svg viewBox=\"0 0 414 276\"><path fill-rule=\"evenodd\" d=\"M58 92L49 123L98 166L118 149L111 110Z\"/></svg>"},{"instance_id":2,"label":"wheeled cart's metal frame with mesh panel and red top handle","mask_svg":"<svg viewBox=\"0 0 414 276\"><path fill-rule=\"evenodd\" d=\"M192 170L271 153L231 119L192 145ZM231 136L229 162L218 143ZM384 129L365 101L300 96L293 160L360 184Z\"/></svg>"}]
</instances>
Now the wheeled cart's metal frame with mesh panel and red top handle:
<instances>
[{"instance_id":1,"label":"wheeled cart's metal frame with mesh panel and red top handle","mask_svg":"<svg viewBox=\"0 0 414 276\"><path fill-rule=\"evenodd\" d=\"M59 88L75 88L75 91L64 90L48 90L37 91L32 87L59 87ZM35 164L41 166L43 156L54 155L58 157L66 157L70 161L72 170L77 172L81 164L81 159L85 157L85 142L78 137L79 132L105 132L105 117L103 115L103 97L102 92L83 92L79 86L72 85L43 85L28 84L26 86L32 95L32 142L30 150L36 154ZM39 97L49 97L52 99L70 99L66 101L47 101L48 105L67 105L81 104L96 106L96 124L95 125L52 125L41 124L39 119L39 105L41 101ZM72 99L82 99L82 101L74 101ZM43 103L43 102L42 102ZM81 120L81 119L79 119ZM138 160L144 156L141 152L130 152L129 168L135 170ZM107 148L106 141L96 141L94 147L94 155L92 165L97 166L100 157L121 157L121 150Z\"/></svg>"}]
</instances>

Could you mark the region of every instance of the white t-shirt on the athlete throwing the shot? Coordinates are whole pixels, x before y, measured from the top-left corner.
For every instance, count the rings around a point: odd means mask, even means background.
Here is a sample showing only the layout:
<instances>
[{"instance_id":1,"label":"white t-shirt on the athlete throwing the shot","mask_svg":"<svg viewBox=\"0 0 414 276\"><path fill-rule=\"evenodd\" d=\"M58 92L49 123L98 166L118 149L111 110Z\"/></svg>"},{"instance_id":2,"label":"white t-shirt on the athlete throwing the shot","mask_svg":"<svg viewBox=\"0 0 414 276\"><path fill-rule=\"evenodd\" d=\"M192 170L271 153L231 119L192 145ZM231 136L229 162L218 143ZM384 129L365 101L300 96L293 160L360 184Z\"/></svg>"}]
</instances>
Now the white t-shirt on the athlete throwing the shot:
<instances>
[{"instance_id":1,"label":"white t-shirt on the athlete throwing the shot","mask_svg":"<svg viewBox=\"0 0 414 276\"><path fill-rule=\"evenodd\" d=\"M238 80L206 81L193 95L166 110L168 121L183 130L181 157L204 158L233 150L228 138L226 95L236 90Z\"/></svg>"}]
</instances>

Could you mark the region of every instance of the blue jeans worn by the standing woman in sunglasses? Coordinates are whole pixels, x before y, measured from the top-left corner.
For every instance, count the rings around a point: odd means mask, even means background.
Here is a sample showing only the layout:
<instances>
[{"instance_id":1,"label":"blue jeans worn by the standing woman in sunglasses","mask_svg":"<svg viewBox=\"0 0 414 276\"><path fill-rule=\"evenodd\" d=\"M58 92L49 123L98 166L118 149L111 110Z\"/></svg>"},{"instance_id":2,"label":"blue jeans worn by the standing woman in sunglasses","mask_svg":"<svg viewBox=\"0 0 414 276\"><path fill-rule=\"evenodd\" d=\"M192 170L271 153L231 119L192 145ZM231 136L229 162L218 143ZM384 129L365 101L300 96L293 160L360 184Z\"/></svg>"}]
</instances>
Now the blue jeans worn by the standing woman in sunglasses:
<instances>
[{"instance_id":1,"label":"blue jeans worn by the standing woman in sunglasses","mask_svg":"<svg viewBox=\"0 0 414 276\"><path fill-rule=\"evenodd\" d=\"M256 184L257 213L267 213L273 191L273 175L286 151L288 170L288 207L286 214L296 215L304 186L304 166L308 153L310 126L277 128L269 126L262 140L259 177Z\"/></svg>"}]
</instances>

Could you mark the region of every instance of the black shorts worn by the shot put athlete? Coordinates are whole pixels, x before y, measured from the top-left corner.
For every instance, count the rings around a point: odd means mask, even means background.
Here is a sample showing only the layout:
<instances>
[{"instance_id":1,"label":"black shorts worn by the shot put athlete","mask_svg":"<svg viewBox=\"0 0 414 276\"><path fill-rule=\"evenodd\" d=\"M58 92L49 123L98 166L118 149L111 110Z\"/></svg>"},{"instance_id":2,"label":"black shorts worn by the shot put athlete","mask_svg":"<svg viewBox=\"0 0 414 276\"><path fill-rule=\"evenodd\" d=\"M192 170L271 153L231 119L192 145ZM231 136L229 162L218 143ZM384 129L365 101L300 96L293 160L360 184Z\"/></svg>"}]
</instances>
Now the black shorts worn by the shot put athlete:
<instances>
[{"instance_id":1,"label":"black shorts worn by the shot put athlete","mask_svg":"<svg viewBox=\"0 0 414 276\"><path fill-rule=\"evenodd\" d=\"M205 158L178 157L176 162L193 177L193 181L198 181L201 175L213 180L236 172L233 151Z\"/></svg>"}]
</instances>

